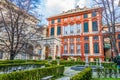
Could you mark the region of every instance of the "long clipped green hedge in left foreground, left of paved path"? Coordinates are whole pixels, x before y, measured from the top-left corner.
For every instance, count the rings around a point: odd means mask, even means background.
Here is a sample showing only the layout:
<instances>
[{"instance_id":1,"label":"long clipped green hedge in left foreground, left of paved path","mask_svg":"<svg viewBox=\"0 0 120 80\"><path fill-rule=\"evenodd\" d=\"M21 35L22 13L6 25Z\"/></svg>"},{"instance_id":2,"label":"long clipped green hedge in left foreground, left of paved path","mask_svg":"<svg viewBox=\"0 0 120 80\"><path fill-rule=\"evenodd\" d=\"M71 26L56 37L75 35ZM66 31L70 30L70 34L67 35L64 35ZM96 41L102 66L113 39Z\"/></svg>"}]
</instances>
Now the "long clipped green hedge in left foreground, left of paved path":
<instances>
[{"instance_id":1,"label":"long clipped green hedge in left foreground, left of paved path","mask_svg":"<svg viewBox=\"0 0 120 80\"><path fill-rule=\"evenodd\" d=\"M46 76L59 77L64 72L64 66L51 66L33 70L12 72L0 75L0 80L40 80Z\"/></svg>"}]
</instances>

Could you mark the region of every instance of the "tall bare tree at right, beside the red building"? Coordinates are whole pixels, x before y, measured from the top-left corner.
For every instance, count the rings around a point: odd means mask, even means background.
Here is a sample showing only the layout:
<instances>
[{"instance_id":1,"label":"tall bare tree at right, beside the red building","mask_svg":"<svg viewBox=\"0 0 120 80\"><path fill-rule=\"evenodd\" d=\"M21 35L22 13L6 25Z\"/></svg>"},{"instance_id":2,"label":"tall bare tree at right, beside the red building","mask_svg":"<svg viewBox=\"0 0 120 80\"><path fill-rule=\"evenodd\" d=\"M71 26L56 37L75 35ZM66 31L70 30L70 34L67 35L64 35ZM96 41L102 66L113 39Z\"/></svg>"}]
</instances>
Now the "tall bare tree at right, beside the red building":
<instances>
[{"instance_id":1,"label":"tall bare tree at right, beside the red building","mask_svg":"<svg viewBox=\"0 0 120 80\"><path fill-rule=\"evenodd\" d=\"M95 4L103 8L103 24L108 27L108 33L112 49L116 56L118 55L118 48L116 45L116 23L120 20L120 8L118 6L118 0L93 0Z\"/></svg>"}]
</instances>

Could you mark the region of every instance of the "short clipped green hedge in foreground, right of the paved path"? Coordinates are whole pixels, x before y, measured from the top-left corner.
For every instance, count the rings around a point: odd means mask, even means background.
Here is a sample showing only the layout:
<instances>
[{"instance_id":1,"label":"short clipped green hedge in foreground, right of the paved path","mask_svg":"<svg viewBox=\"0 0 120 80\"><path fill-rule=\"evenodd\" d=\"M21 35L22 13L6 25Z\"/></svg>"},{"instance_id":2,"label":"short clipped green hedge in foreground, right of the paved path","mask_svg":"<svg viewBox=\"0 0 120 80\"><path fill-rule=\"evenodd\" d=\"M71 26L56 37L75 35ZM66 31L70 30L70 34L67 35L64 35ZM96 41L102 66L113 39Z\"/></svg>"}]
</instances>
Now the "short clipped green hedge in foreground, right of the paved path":
<instances>
[{"instance_id":1,"label":"short clipped green hedge in foreground, right of the paved path","mask_svg":"<svg viewBox=\"0 0 120 80\"><path fill-rule=\"evenodd\" d=\"M85 68L80 73L73 76L70 80L91 80L92 79L92 69Z\"/></svg>"}]
</instances>

